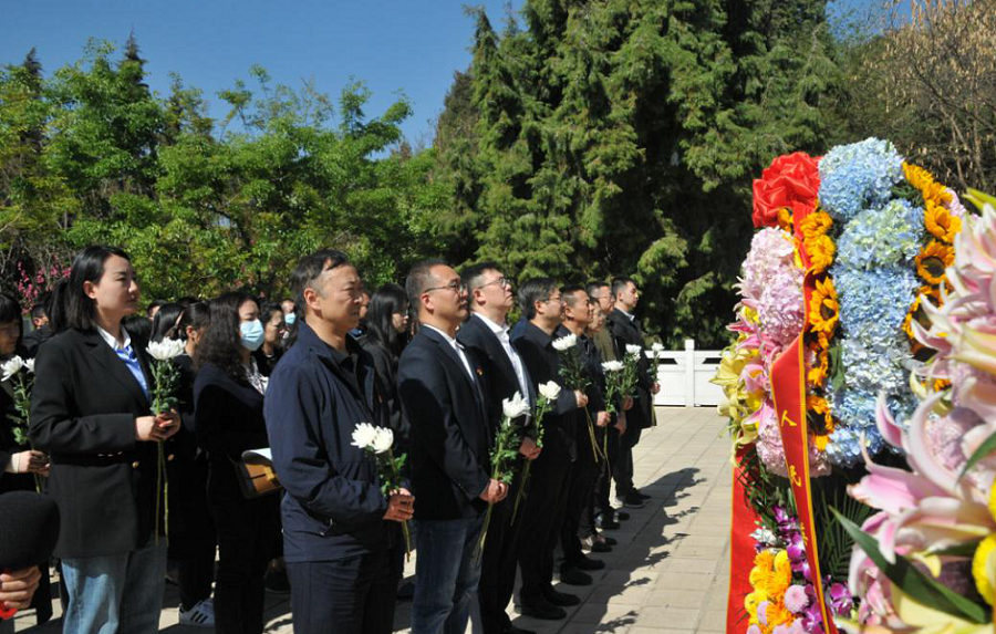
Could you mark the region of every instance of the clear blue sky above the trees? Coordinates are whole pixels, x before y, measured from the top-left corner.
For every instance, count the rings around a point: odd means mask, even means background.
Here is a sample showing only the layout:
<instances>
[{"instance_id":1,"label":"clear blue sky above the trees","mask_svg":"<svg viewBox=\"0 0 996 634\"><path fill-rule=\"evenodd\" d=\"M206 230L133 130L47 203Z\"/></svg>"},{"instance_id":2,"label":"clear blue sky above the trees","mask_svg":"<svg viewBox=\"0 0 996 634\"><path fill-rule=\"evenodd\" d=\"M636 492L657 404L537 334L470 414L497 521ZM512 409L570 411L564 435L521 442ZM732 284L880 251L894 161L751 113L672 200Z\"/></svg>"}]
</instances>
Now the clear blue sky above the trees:
<instances>
[{"instance_id":1,"label":"clear blue sky above the trees","mask_svg":"<svg viewBox=\"0 0 996 634\"><path fill-rule=\"evenodd\" d=\"M874 0L839 0L864 6ZM500 28L505 0L476 0ZM404 124L413 144L432 143L432 121L443 108L453 73L470 61L474 23L458 0L7 0L0 63L18 63L35 46L45 72L82 55L90 38L122 44L134 29L148 60L148 84L167 93L169 73L197 86L210 114L224 116L216 96L252 64L274 83L313 79L336 96L351 76L373 92L376 115L403 91L414 115ZM512 0L518 9L522 0ZM251 86L251 84L250 84Z\"/></svg>"}]
</instances>

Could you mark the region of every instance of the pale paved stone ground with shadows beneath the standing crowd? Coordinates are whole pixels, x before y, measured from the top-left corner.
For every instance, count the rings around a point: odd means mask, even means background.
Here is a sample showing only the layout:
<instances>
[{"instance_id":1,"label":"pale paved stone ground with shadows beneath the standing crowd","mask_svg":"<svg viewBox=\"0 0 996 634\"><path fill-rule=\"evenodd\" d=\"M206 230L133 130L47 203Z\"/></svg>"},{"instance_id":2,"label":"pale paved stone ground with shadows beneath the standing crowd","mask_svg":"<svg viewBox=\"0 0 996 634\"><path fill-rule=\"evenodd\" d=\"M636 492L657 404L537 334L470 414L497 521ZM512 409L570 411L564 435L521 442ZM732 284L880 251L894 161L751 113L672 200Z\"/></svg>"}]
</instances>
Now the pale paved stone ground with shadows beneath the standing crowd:
<instances>
[{"instance_id":1,"label":"pale paved stone ground with shadows beneath the standing crowd","mask_svg":"<svg viewBox=\"0 0 996 634\"><path fill-rule=\"evenodd\" d=\"M713 408L657 408L657 426L645 430L635 450L635 481L653 496L631 510L622 528L606 534L613 552L594 555L605 570L589 588L559 585L579 594L581 605L564 621L537 621L509 607L513 622L540 634L691 634L723 632L729 583L732 474L725 423ZM415 570L415 559L405 574ZM177 624L178 599L169 586L160 631L199 634ZM411 603L398 604L395 632L409 632ZM58 611L58 603L56 603ZM291 634L289 595L267 595L267 634ZM19 615L20 632L34 621ZM58 621L33 632L60 630Z\"/></svg>"}]
</instances>

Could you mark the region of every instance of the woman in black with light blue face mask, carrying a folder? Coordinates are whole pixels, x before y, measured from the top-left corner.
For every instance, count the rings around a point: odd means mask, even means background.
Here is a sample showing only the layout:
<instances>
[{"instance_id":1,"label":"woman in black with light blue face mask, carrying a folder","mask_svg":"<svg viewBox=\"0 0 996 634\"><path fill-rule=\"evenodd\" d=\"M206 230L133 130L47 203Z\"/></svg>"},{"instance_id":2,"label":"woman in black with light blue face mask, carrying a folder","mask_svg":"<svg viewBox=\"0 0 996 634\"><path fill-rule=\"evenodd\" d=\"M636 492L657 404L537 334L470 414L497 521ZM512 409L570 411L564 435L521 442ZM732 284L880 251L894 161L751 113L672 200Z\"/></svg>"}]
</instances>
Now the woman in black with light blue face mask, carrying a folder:
<instances>
[{"instance_id":1,"label":"woman in black with light blue face mask, carrying a folder","mask_svg":"<svg viewBox=\"0 0 996 634\"><path fill-rule=\"evenodd\" d=\"M210 324L195 353L195 425L208 453L208 507L218 533L215 630L261 634L263 573L278 534L280 498L246 499L236 465L242 451L269 447L263 377L251 353L262 345L259 305L226 293L212 300Z\"/></svg>"}]
</instances>

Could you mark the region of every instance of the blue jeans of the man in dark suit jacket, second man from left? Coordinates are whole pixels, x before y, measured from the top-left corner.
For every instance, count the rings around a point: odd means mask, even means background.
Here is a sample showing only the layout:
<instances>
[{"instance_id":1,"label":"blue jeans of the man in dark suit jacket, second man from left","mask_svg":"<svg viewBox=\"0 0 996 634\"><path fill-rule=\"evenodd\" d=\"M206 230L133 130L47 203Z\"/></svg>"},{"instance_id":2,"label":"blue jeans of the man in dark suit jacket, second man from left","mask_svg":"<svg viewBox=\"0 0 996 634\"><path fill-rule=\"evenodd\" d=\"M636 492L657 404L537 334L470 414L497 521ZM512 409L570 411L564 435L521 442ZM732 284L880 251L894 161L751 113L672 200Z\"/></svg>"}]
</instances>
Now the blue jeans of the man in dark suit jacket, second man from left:
<instances>
[{"instance_id":1,"label":"blue jeans of the man in dark suit jacket, second man from left","mask_svg":"<svg viewBox=\"0 0 996 634\"><path fill-rule=\"evenodd\" d=\"M484 516L415 520L415 599L412 634L464 634L477 604L480 561L475 550Z\"/></svg>"}]
</instances>

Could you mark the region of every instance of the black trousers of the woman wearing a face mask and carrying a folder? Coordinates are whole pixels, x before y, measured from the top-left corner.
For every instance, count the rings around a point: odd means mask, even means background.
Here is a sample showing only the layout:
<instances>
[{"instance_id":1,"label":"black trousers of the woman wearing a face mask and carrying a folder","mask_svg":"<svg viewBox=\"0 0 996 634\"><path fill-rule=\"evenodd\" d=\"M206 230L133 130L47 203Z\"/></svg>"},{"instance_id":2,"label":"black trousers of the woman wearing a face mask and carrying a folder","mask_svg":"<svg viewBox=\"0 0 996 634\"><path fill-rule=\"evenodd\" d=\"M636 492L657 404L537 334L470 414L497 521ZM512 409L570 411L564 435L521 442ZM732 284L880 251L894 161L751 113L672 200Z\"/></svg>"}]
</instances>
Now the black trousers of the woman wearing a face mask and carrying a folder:
<instances>
[{"instance_id":1,"label":"black trousers of the woman wearing a face mask and carrying a folder","mask_svg":"<svg viewBox=\"0 0 996 634\"><path fill-rule=\"evenodd\" d=\"M215 632L262 634L263 575L278 539L280 496L247 500L235 479L235 467L212 462L208 506L218 533Z\"/></svg>"}]
</instances>

